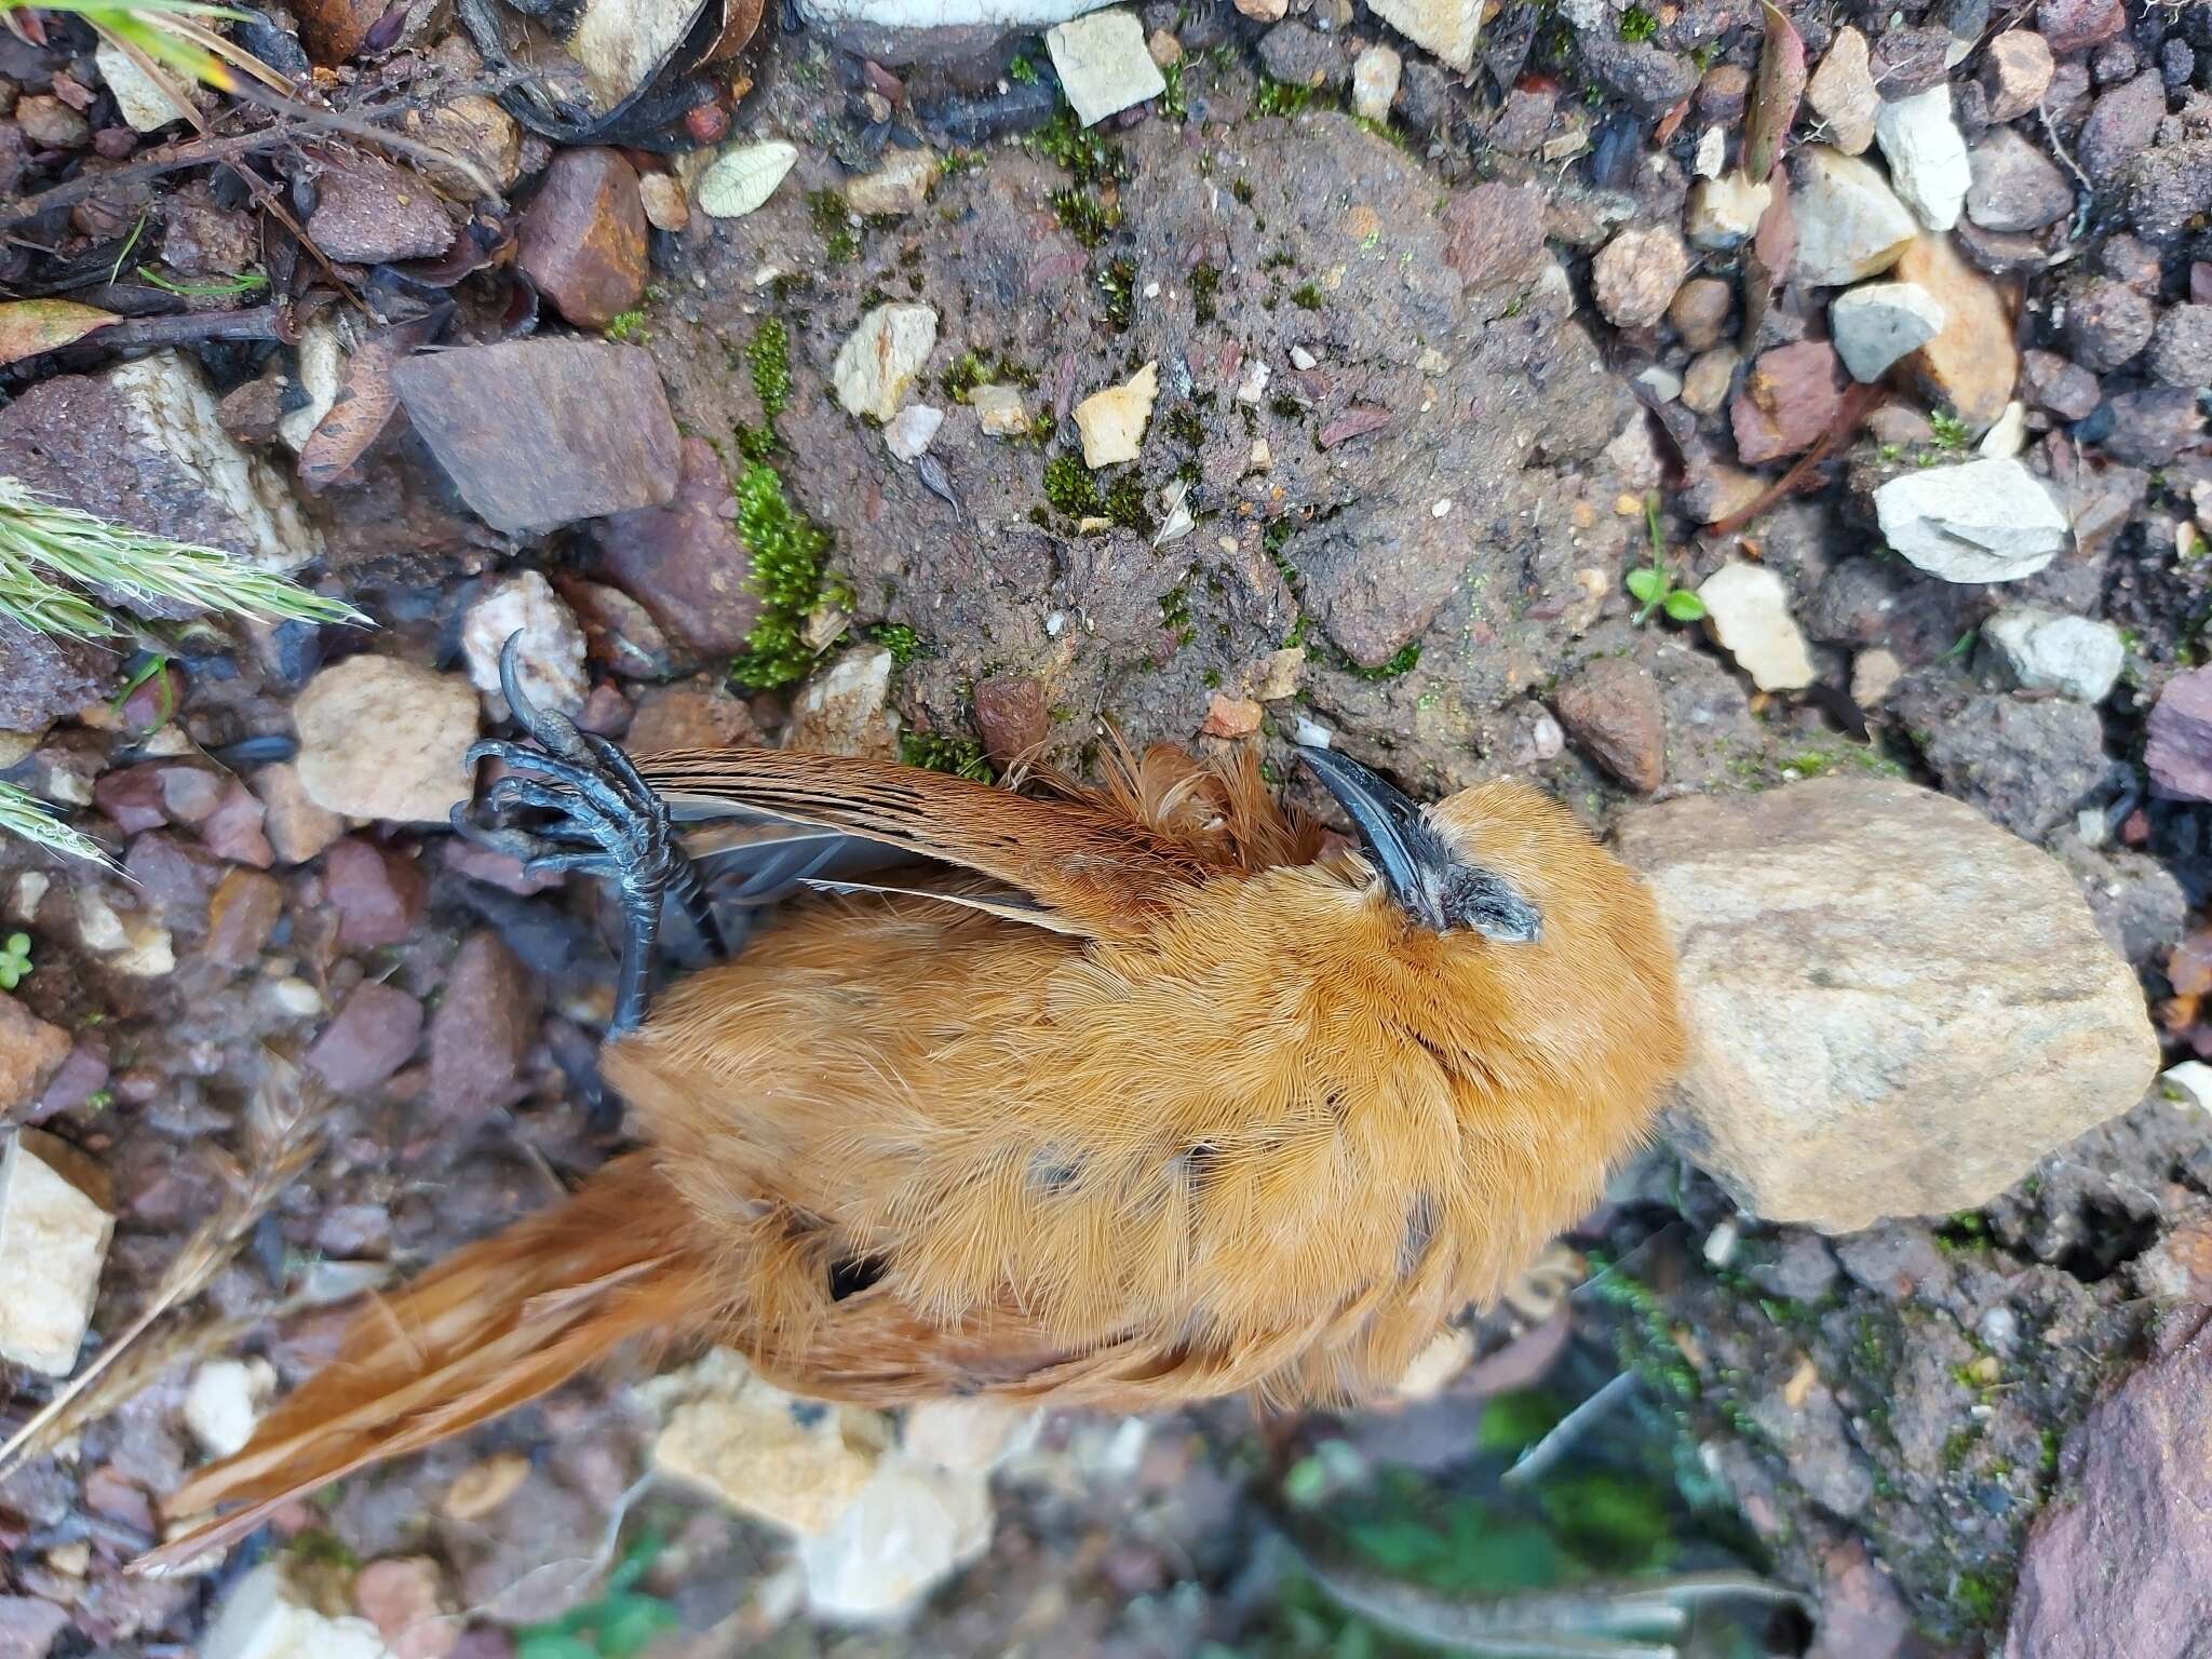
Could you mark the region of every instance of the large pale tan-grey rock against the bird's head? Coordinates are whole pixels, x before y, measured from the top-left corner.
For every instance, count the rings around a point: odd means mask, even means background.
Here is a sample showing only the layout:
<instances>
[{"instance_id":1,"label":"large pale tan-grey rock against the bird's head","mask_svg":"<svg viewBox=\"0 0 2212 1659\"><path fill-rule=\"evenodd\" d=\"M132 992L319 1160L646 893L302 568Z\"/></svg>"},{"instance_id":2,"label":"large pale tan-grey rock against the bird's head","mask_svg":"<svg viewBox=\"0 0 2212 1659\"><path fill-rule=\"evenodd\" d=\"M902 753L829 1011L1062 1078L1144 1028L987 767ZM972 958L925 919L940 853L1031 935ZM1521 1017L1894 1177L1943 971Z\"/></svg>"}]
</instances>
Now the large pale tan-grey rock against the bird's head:
<instances>
[{"instance_id":1,"label":"large pale tan-grey rock against the bird's head","mask_svg":"<svg viewBox=\"0 0 2212 1659\"><path fill-rule=\"evenodd\" d=\"M1971 1210L2135 1106L2143 993L2066 872L1891 779L1621 823L1681 956L1681 1150L1767 1221Z\"/></svg>"}]
</instances>

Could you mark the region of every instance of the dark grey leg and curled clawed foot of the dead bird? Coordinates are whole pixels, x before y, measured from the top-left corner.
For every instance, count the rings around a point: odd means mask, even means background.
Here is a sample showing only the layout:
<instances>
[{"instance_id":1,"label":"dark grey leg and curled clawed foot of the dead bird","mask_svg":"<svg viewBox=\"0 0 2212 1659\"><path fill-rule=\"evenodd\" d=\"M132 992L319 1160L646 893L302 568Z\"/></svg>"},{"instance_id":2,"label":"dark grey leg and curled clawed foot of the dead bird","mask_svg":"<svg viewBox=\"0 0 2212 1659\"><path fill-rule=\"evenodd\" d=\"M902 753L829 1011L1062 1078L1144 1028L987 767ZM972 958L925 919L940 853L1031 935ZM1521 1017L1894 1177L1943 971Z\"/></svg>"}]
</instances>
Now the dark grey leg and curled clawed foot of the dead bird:
<instances>
[{"instance_id":1,"label":"dark grey leg and curled clawed foot of the dead bird","mask_svg":"<svg viewBox=\"0 0 2212 1659\"><path fill-rule=\"evenodd\" d=\"M469 765L504 761L509 772L476 801L453 807L453 830L480 847L522 860L529 874L577 869L606 876L622 894L622 978L611 1035L646 1018L653 942L661 900L675 898L708 951L726 956L721 922L699 872L677 845L668 805L637 776L630 757L604 737L580 732L566 714L538 708L515 675L515 639L500 653L500 690L529 741L489 737L469 745ZM489 821L478 818L484 807ZM553 814L538 830L511 823L515 810Z\"/></svg>"}]
</instances>

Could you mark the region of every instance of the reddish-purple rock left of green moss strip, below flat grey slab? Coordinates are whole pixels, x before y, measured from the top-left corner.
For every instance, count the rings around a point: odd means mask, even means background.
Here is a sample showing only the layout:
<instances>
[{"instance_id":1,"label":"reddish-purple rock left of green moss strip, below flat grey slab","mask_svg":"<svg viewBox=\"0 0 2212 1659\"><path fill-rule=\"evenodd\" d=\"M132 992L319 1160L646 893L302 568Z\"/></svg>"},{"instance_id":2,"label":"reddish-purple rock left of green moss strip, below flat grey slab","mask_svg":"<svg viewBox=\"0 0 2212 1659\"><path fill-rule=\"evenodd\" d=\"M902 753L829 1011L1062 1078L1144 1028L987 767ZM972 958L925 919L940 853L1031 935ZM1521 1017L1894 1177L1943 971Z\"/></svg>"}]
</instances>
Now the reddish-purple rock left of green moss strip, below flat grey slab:
<instances>
[{"instance_id":1,"label":"reddish-purple rock left of green moss strip, below flat grey slab","mask_svg":"<svg viewBox=\"0 0 2212 1659\"><path fill-rule=\"evenodd\" d=\"M686 646L743 650L761 617L752 557L737 540L730 476L706 438L686 438L675 500L615 513L599 531L599 568Z\"/></svg>"}]
</instances>

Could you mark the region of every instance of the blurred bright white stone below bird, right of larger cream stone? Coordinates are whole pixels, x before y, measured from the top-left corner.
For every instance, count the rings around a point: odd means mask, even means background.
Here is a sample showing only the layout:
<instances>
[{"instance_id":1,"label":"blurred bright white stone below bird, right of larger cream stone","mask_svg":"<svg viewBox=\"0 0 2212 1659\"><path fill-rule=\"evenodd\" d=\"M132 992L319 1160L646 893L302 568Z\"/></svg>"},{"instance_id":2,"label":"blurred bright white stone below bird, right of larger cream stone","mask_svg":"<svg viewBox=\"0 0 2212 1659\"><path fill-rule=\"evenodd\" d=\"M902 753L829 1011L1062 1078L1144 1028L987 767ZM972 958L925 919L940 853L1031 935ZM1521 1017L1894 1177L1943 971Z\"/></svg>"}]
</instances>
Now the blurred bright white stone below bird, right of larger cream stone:
<instances>
[{"instance_id":1,"label":"blurred bright white stone below bird, right of larger cream stone","mask_svg":"<svg viewBox=\"0 0 2212 1659\"><path fill-rule=\"evenodd\" d=\"M991 1520L984 1475L894 1453L836 1526L799 1540L807 1608L825 1619L896 1619L991 1548Z\"/></svg>"}]
</instances>

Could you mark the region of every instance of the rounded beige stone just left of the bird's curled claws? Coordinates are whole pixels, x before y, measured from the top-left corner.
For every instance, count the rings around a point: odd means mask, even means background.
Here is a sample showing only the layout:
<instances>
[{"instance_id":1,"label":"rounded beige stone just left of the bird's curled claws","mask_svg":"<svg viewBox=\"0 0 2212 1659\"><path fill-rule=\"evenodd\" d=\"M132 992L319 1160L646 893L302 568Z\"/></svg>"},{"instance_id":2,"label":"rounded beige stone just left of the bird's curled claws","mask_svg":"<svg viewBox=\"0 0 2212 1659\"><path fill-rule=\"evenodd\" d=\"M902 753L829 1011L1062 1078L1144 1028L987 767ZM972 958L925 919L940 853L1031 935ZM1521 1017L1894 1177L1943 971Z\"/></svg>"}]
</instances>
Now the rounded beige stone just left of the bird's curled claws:
<instances>
[{"instance_id":1,"label":"rounded beige stone just left of the bird's curled claws","mask_svg":"<svg viewBox=\"0 0 2212 1659\"><path fill-rule=\"evenodd\" d=\"M347 657L292 703L299 783L325 812L447 823L469 799L476 688L396 657Z\"/></svg>"}]
</instances>

